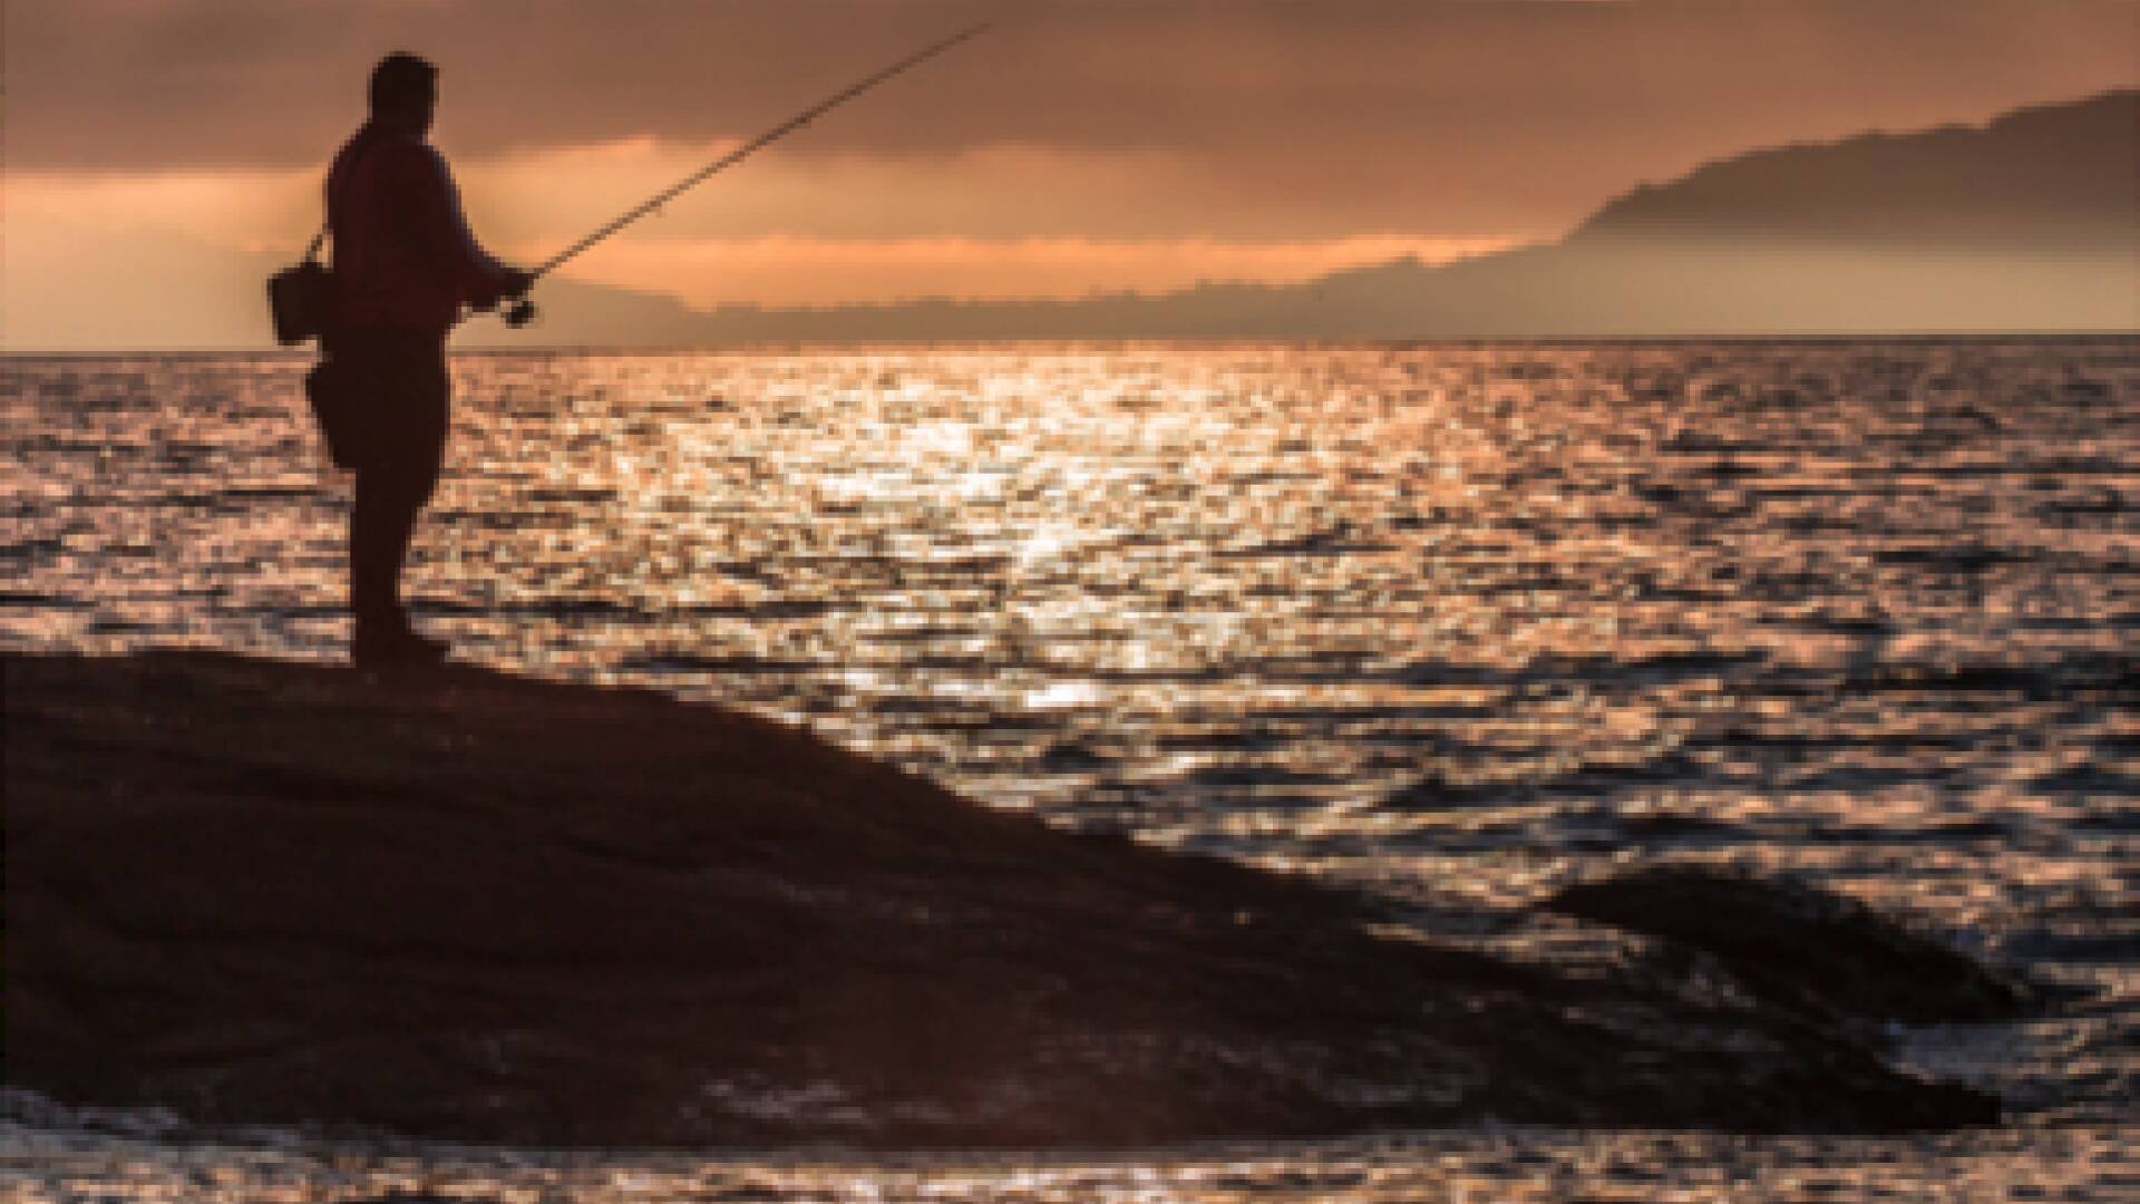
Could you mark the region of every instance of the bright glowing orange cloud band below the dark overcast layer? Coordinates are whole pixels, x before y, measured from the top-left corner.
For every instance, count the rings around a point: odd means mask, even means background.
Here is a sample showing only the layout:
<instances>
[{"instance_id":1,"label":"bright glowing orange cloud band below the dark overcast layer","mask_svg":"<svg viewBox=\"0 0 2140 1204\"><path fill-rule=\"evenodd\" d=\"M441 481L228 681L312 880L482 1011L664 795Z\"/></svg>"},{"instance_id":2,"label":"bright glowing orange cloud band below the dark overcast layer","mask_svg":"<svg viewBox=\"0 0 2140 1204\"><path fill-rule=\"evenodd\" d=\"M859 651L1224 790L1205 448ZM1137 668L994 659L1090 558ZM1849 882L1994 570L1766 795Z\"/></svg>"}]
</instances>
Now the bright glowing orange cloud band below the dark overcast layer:
<instances>
[{"instance_id":1,"label":"bright glowing orange cloud band below the dark overcast layer","mask_svg":"<svg viewBox=\"0 0 2140 1204\"><path fill-rule=\"evenodd\" d=\"M460 191L477 234L544 259L734 144L603 146L464 156ZM321 169L13 171L9 223L34 238L64 216L160 227L244 249L293 249L321 219ZM1098 240L1226 244L1333 238L1509 238L1504 212L1425 223L1406 195L1290 189L1243 204L1224 178L1158 152L978 148L946 156L766 159L685 193L618 236L747 242Z\"/></svg>"}]
</instances>

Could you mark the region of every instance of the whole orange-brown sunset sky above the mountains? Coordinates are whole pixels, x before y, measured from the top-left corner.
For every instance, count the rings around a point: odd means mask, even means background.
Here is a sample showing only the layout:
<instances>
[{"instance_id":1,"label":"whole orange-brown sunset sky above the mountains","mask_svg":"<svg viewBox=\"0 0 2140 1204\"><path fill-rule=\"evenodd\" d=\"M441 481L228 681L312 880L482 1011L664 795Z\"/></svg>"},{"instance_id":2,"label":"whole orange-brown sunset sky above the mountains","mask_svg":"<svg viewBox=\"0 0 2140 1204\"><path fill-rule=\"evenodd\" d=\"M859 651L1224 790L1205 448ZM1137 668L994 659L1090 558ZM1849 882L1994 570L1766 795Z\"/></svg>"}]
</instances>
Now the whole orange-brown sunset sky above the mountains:
<instances>
[{"instance_id":1,"label":"whole orange-brown sunset sky above the mountains","mask_svg":"<svg viewBox=\"0 0 2140 1204\"><path fill-rule=\"evenodd\" d=\"M477 234L539 261L993 21L569 268L698 306L1449 259L1554 238L1740 150L2140 81L2134 0L4 0L0 17L0 345L32 308L88 321L116 279L184 296L216 255L293 257L392 49L441 66L432 139Z\"/></svg>"}]
</instances>

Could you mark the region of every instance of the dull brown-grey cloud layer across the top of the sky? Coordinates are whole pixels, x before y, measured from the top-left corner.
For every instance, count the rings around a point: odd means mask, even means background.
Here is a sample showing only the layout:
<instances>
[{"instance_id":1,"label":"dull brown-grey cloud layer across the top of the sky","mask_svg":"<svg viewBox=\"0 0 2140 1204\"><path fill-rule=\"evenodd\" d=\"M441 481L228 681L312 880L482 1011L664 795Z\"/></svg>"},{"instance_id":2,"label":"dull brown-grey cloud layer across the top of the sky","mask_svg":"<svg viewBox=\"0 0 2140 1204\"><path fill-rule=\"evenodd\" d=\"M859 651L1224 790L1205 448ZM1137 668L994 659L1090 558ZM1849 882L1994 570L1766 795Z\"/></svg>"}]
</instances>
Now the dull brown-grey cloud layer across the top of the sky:
<instances>
[{"instance_id":1,"label":"dull brown-grey cloud layer across the top of the sky","mask_svg":"<svg viewBox=\"0 0 2140 1204\"><path fill-rule=\"evenodd\" d=\"M1400 197L1569 221L1631 178L2131 84L2110 0L83 0L9 9L17 169L317 165L385 49L441 62L441 146L745 137L976 15L978 43L779 159L1149 154L1239 206ZM1004 204L1017 204L1008 197Z\"/></svg>"}]
</instances>

